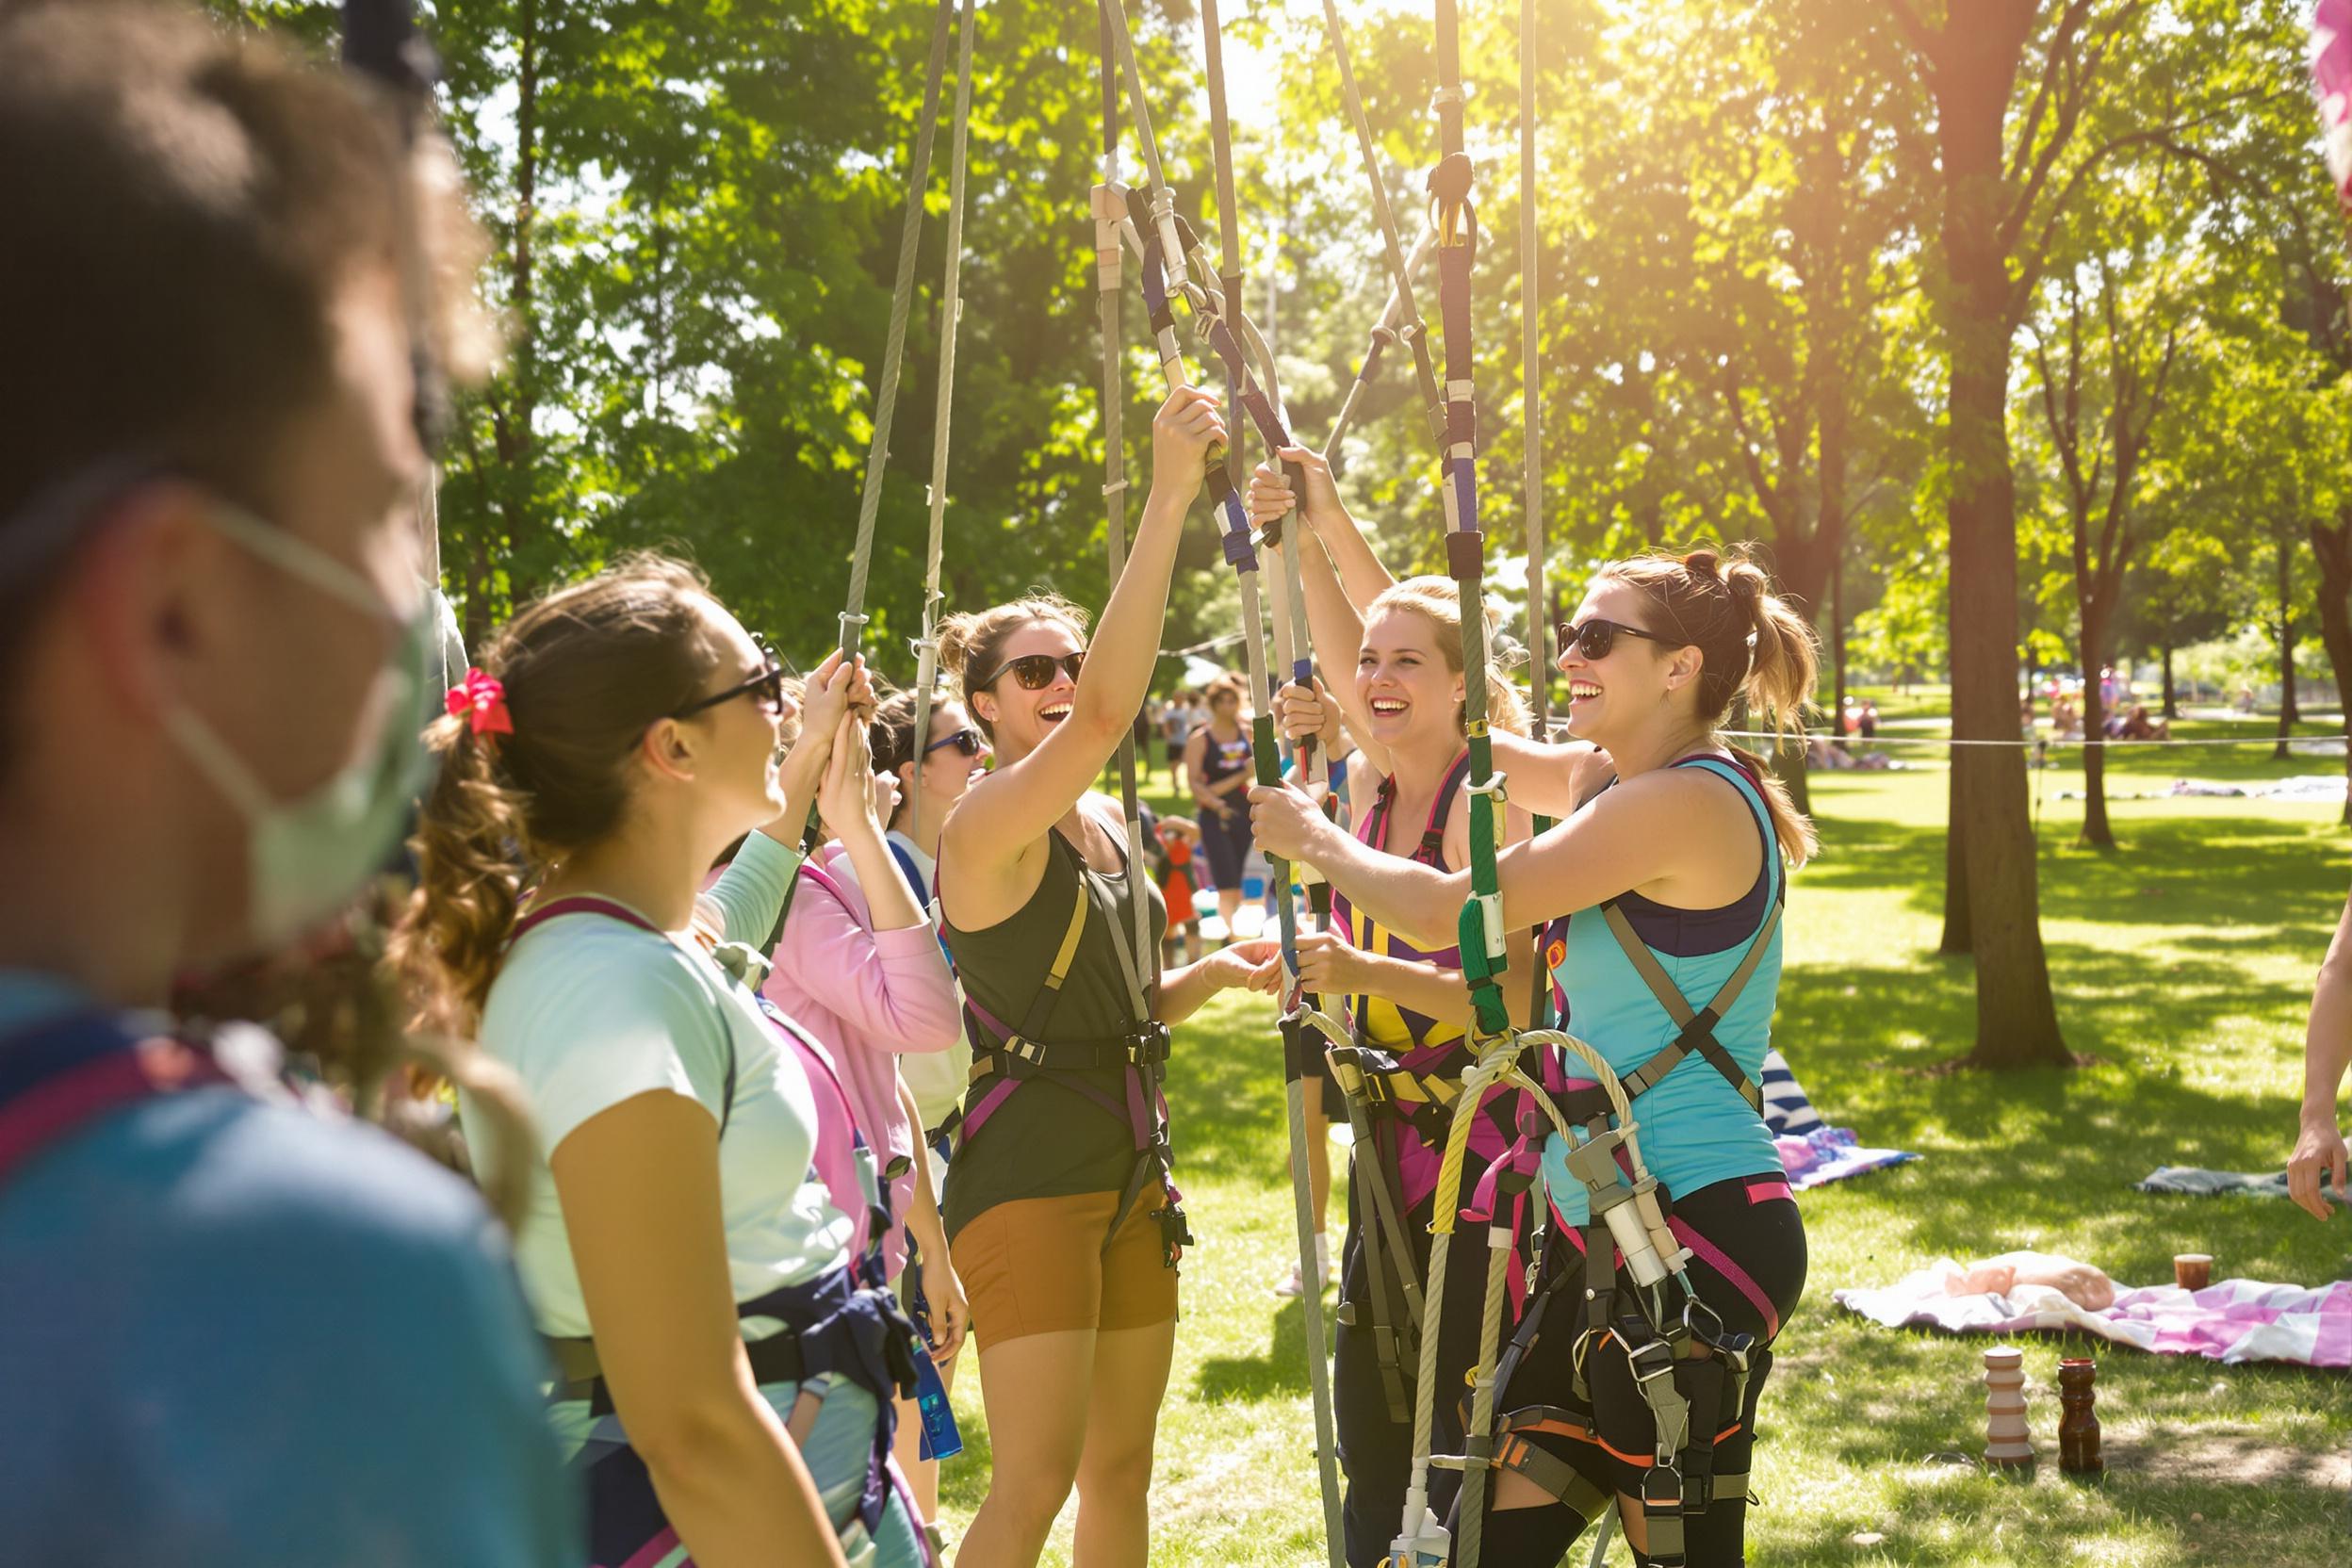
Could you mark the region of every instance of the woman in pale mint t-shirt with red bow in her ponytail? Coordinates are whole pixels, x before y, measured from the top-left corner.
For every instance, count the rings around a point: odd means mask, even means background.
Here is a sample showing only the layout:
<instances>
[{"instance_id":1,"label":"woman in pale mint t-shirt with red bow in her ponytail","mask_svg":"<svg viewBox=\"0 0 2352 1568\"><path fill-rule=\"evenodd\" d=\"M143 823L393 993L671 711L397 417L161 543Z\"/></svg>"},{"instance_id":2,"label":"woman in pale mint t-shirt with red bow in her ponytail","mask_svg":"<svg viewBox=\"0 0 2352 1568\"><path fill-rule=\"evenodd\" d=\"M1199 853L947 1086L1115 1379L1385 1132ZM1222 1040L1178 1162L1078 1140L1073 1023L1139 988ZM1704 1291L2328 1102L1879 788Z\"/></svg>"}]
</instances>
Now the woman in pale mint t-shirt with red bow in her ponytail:
<instances>
[{"instance_id":1,"label":"woman in pale mint t-shirt with red bow in her ponytail","mask_svg":"<svg viewBox=\"0 0 2352 1568\"><path fill-rule=\"evenodd\" d=\"M889 1465L910 1331L851 1267L875 1197L854 1100L753 990L807 802L866 790L842 741L863 670L816 670L779 762L783 665L661 557L541 599L480 658L430 731L393 957L539 1124L543 1152L475 1145L529 1168L515 1251L590 1561L922 1563ZM470 1095L459 1114L475 1133Z\"/></svg>"}]
</instances>

